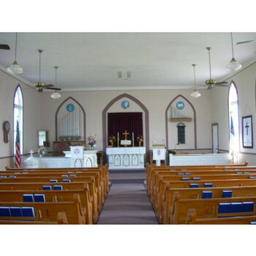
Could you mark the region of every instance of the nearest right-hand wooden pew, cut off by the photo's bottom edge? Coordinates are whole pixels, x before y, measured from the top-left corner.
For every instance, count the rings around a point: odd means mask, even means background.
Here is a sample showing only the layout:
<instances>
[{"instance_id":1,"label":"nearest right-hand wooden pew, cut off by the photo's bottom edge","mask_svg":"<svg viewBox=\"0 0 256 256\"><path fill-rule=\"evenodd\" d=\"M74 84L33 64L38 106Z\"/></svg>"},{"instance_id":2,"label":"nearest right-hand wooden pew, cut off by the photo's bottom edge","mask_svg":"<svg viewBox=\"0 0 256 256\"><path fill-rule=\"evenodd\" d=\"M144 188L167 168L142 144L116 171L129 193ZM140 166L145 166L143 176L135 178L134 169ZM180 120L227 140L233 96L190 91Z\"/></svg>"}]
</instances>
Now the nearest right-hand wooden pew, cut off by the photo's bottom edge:
<instances>
[{"instance_id":1,"label":"nearest right-hand wooden pew, cut off by the photo's bottom edge","mask_svg":"<svg viewBox=\"0 0 256 256\"><path fill-rule=\"evenodd\" d=\"M201 224L201 225L210 225L210 224L250 224L250 222L256 222L256 215L245 216L245 217L226 217L226 218L197 218L196 210L189 209L187 212L186 224Z\"/></svg>"}]
</instances>

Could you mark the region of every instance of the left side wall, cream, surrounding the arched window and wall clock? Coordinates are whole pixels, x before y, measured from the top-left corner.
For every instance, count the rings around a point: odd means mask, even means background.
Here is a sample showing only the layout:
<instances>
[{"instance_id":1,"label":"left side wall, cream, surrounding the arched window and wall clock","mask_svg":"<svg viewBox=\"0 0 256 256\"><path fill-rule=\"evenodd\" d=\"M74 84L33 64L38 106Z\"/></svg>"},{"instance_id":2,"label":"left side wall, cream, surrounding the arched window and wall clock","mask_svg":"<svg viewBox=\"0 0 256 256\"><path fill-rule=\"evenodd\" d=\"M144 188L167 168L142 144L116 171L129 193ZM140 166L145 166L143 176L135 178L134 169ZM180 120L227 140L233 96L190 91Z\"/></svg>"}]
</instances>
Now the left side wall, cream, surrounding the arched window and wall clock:
<instances>
[{"instance_id":1,"label":"left side wall, cream, surrounding the arched window and wall clock","mask_svg":"<svg viewBox=\"0 0 256 256\"><path fill-rule=\"evenodd\" d=\"M36 90L26 86L24 82L0 70L0 170L4 170L5 166L13 166L13 106L14 93L18 85L22 88L24 107L23 152L26 154L30 150L36 152L38 150L38 130L41 126L40 95ZM10 141L8 143L3 142L2 123L5 121L10 122Z\"/></svg>"}]
</instances>

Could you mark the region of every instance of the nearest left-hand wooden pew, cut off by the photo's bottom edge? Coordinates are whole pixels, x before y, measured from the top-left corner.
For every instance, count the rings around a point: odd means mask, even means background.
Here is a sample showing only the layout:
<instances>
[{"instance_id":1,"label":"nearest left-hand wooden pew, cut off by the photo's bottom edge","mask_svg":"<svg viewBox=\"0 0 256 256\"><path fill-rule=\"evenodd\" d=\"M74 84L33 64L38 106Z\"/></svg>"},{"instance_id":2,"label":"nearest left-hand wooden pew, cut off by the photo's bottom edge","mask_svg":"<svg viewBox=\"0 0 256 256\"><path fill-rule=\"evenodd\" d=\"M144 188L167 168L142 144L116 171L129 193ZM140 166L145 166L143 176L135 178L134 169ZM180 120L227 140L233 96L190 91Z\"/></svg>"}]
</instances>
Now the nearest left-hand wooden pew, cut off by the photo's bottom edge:
<instances>
[{"instance_id":1,"label":"nearest left-hand wooden pew, cut off by the photo's bottom edge","mask_svg":"<svg viewBox=\"0 0 256 256\"><path fill-rule=\"evenodd\" d=\"M0 218L0 224L5 224L5 225L10 225L10 224L14 224L14 225L57 225L57 224L69 224L67 222L67 218L66 218L66 213L65 212L58 212L57 214L57 221L42 221L42 220L38 220L38 219L34 219L34 220L22 220L22 218L12 218L12 219L5 219L2 220Z\"/></svg>"}]
</instances>

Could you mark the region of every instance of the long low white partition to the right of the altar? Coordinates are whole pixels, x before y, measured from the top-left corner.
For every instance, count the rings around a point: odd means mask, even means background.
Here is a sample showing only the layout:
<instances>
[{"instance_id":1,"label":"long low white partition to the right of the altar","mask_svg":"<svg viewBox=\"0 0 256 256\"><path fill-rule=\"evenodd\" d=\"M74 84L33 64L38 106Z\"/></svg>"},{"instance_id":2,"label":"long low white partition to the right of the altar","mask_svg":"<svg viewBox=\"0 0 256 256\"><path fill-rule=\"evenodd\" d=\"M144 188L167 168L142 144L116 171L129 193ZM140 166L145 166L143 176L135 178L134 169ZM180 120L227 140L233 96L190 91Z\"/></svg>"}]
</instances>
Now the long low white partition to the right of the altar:
<instances>
[{"instance_id":1,"label":"long low white partition to the right of the altar","mask_svg":"<svg viewBox=\"0 0 256 256\"><path fill-rule=\"evenodd\" d=\"M169 154L169 166L230 165L229 154Z\"/></svg>"}]
</instances>

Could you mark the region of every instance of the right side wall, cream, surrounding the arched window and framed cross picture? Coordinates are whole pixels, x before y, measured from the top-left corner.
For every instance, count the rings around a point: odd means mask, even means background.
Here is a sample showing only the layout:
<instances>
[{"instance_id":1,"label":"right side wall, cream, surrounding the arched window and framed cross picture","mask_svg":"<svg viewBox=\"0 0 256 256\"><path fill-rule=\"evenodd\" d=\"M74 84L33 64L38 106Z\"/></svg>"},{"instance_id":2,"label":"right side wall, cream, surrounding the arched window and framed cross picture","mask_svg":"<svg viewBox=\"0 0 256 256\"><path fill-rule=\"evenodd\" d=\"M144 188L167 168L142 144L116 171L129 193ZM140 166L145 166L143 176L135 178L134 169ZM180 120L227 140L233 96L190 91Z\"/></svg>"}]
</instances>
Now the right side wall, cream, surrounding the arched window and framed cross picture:
<instances>
[{"instance_id":1,"label":"right side wall, cream, surrounding the arched window and framed cross picture","mask_svg":"<svg viewBox=\"0 0 256 256\"><path fill-rule=\"evenodd\" d=\"M238 90L239 106L239 138L240 138L240 155L239 162L249 161L250 165L256 165L256 145L255 136L254 148L242 148L242 116L253 116L254 134L256 129L255 116L255 78L256 64L247 67L238 74L235 74L227 82L234 82ZM229 150L229 118L228 118L228 88L215 87L212 91L212 122L218 122L219 129L219 149ZM249 153L249 154L246 154Z\"/></svg>"}]
</instances>

